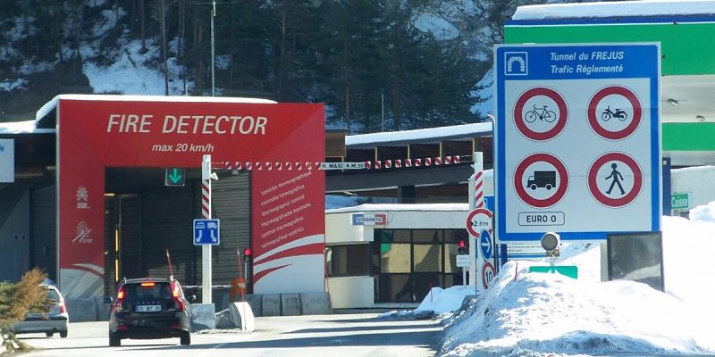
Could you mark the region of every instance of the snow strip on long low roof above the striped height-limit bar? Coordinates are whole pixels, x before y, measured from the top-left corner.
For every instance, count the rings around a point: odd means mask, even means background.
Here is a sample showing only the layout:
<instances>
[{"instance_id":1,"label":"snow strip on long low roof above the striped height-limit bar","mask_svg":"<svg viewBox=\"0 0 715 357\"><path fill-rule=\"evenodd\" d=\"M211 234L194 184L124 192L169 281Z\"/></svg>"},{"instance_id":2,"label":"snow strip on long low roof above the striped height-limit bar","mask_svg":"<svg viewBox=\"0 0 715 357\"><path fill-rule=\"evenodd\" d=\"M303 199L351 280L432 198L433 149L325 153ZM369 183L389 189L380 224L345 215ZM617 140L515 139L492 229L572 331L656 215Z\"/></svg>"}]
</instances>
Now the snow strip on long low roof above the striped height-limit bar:
<instances>
[{"instance_id":1,"label":"snow strip on long low roof above the striped height-limit bar","mask_svg":"<svg viewBox=\"0 0 715 357\"><path fill-rule=\"evenodd\" d=\"M417 140L458 140L487 135L492 135L491 122L453 125L442 128L351 135L345 137L345 145L350 148L357 149L374 147L375 145L407 144L408 142L414 142Z\"/></svg>"}]
</instances>

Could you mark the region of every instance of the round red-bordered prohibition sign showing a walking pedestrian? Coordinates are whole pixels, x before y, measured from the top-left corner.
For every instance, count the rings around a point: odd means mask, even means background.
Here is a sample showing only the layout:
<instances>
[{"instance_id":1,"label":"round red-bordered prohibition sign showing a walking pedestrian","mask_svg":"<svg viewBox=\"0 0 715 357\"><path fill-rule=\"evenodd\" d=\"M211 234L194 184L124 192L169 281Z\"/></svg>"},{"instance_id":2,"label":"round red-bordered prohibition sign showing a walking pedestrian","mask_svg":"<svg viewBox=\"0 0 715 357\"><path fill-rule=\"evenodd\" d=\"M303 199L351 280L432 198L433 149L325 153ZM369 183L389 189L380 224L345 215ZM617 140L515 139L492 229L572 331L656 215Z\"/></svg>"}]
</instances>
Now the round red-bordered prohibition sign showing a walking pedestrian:
<instances>
[{"instance_id":1,"label":"round red-bordered prohibition sign showing a walking pedestrian","mask_svg":"<svg viewBox=\"0 0 715 357\"><path fill-rule=\"evenodd\" d=\"M628 169L630 169L633 172L633 186L631 187L630 191L626 192L625 195L619 197L619 198L611 198L601 192L601 189L598 187L598 171L606 165L609 162L623 162L626 164ZM615 163L613 165L616 165ZM618 167L618 165L616 165ZM616 168L613 168L613 172L617 172ZM615 180L615 179L614 179ZM620 186L620 183L618 183ZM612 187L613 185L611 185ZM643 171L641 171L640 166L638 166L638 162L635 162L635 160L628 156L627 154L623 153L607 153L601 155L598 159L596 159L595 162L591 165L591 169L588 170L588 190L591 192L591 195L593 195L593 198L596 199L599 203L609 206L609 207L623 207L627 205L628 203L632 203L635 200L635 197L637 197L641 193L641 188L643 187Z\"/></svg>"}]
</instances>

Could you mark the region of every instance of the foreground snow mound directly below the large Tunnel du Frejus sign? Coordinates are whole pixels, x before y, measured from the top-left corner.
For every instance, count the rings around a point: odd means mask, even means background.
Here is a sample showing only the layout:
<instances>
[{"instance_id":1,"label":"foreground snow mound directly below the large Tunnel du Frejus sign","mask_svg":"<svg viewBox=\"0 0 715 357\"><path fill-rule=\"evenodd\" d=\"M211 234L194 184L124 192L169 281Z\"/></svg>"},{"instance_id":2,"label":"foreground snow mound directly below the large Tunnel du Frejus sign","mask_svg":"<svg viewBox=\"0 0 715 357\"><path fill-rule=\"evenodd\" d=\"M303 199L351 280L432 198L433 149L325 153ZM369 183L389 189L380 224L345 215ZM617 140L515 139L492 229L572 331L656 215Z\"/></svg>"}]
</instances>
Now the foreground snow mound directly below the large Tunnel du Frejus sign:
<instances>
[{"instance_id":1,"label":"foreground snow mound directly below the large Tunnel du Frejus sign","mask_svg":"<svg viewBox=\"0 0 715 357\"><path fill-rule=\"evenodd\" d=\"M473 314L450 328L444 355L708 351L693 337L694 311L674 296L632 281L528 273L521 265L514 281L516 262L507 263Z\"/></svg>"}]
</instances>

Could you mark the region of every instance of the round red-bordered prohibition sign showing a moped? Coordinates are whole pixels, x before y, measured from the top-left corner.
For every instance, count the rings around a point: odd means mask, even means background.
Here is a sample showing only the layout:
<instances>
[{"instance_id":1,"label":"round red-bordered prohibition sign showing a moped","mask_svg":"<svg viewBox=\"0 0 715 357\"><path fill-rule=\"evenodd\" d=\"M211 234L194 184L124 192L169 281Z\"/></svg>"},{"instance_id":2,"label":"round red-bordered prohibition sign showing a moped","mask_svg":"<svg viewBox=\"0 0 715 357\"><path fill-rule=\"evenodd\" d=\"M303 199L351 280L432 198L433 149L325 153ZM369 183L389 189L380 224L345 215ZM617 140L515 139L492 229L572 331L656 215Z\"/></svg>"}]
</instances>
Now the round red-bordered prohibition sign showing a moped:
<instances>
[{"instance_id":1,"label":"round red-bordered prohibition sign showing a moped","mask_svg":"<svg viewBox=\"0 0 715 357\"><path fill-rule=\"evenodd\" d=\"M601 120L599 120L601 115L597 112L598 104L600 104L601 100L608 95L620 95L625 97L631 104L631 108L633 108L633 118L631 118L630 123L628 123L628 125L623 129L611 131L601 125ZM595 131L600 137L610 140L621 140L629 137L635 132L635 129L638 129L638 126L641 124L641 120L643 119L643 108L641 107L641 101L638 100L638 96L636 96L633 91L627 87L611 86L602 88L596 92L595 95L593 95L591 100L588 102L588 110L586 111L586 114L588 116L588 123L591 126L591 129L593 129L593 131Z\"/></svg>"}]
</instances>

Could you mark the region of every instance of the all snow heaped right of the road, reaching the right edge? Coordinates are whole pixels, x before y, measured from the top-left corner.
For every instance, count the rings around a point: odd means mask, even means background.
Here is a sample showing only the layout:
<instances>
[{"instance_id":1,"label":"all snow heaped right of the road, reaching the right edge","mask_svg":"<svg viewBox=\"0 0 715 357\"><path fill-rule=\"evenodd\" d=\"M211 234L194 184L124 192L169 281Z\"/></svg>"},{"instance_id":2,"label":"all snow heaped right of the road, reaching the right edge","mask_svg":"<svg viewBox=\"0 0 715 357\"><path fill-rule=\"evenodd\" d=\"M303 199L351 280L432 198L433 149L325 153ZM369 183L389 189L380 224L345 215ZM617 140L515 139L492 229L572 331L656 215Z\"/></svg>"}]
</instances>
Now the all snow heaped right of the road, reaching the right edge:
<instances>
[{"instance_id":1,"label":"all snow heaped right of the road, reaching the right edge","mask_svg":"<svg viewBox=\"0 0 715 357\"><path fill-rule=\"evenodd\" d=\"M442 356L713 355L715 203L691 216L663 217L665 293L601 282L600 245L572 243L556 263L577 265L578 279L528 272L546 260L512 261L467 311L462 286L433 288L418 310L457 311L443 320Z\"/></svg>"}]
</instances>

